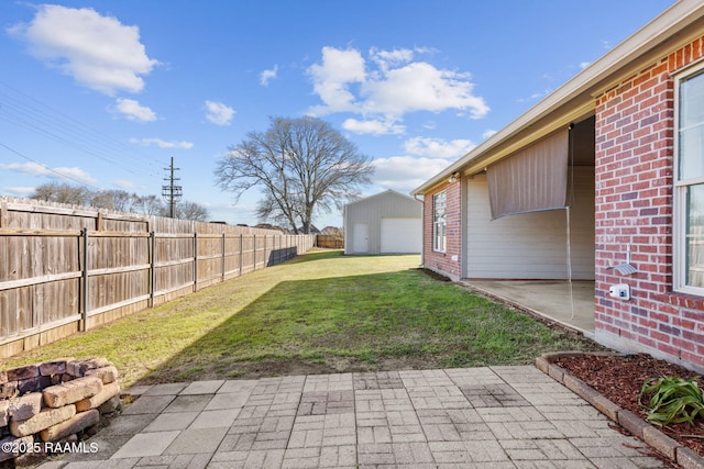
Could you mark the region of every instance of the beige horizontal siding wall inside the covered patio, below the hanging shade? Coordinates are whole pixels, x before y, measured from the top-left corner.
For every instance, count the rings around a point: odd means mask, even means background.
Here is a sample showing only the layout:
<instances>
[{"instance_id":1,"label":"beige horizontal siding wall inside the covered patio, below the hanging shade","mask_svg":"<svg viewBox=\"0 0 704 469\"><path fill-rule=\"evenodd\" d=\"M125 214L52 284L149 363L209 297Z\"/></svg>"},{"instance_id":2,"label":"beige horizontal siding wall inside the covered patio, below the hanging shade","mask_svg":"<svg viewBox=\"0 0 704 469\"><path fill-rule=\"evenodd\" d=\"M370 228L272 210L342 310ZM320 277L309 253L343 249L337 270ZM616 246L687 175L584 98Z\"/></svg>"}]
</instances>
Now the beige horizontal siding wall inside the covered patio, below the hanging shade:
<instances>
[{"instance_id":1,"label":"beige horizontal siding wall inside the covered patio, below the hanging shade","mask_svg":"<svg viewBox=\"0 0 704 469\"><path fill-rule=\"evenodd\" d=\"M571 209L572 278L594 279L594 169L576 167ZM484 279L566 279L564 210L526 213L491 221L486 176L468 182L465 277Z\"/></svg>"}]
</instances>

